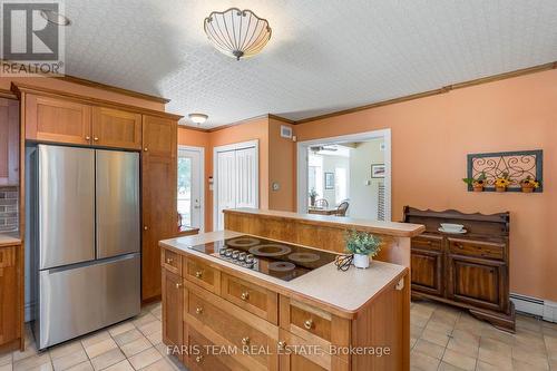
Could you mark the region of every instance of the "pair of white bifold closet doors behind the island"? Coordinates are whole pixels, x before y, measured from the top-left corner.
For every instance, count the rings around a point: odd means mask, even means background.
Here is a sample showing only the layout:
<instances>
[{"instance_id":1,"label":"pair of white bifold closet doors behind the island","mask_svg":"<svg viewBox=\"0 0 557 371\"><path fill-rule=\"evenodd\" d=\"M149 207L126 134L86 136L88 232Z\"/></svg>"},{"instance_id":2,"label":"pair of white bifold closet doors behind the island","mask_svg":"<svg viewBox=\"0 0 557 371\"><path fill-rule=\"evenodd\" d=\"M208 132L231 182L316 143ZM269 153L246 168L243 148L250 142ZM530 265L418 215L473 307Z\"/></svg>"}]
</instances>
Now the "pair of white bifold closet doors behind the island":
<instances>
[{"instance_id":1,"label":"pair of white bifold closet doors behind the island","mask_svg":"<svg viewBox=\"0 0 557 371\"><path fill-rule=\"evenodd\" d=\"M216 147L214 153L214 230L224 228L226 208L258 206L258 144L246 141Z\"/></svg>"}]
</instances>

